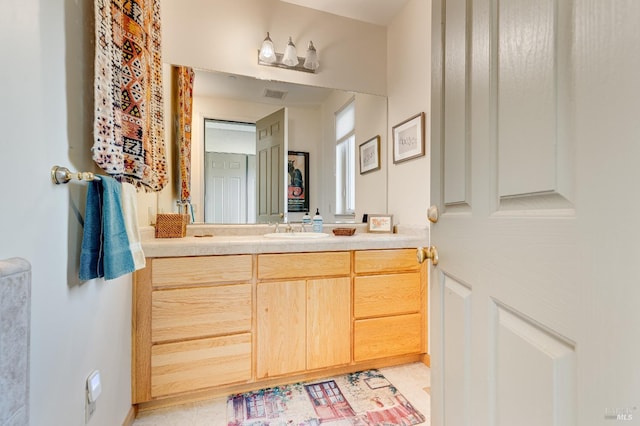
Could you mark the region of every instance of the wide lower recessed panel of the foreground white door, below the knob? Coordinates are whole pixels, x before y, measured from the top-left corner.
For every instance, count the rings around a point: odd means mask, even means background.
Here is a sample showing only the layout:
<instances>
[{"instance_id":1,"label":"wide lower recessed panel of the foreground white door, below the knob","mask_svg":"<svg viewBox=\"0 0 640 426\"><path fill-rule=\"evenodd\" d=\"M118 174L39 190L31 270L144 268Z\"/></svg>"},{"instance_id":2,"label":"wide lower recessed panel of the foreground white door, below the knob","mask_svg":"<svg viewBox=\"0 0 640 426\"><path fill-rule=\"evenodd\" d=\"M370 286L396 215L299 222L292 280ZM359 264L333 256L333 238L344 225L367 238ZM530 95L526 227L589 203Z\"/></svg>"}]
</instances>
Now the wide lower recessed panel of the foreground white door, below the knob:
<instances>
[{"instance_id":1,"label":"wide lower recessed panel of the foreground white door, below the knob","mask_svg":"<svg viewBox=\"0 0 640 426\"><path fill-rule=\"evenodd\" d=\"M490 424L575 424L575 343L495 300L489 316Z\"/></svg>"}]
</instances>

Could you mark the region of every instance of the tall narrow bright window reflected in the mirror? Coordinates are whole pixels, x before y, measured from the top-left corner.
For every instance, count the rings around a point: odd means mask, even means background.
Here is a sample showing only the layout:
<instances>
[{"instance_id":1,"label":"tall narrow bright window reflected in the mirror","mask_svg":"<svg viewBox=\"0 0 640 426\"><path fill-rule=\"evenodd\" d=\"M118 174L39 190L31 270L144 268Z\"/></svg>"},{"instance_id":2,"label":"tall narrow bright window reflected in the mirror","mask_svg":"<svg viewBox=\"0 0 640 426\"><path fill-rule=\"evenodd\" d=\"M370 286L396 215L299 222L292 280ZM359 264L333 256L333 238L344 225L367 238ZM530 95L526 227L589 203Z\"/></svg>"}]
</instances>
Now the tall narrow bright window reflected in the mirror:
<instances>
[{"instance_id":1,"label":"tall narrow bright window reflected in the mirror","mask_svg":"<svg viewBox=\"0 0 640 426\"><path fill-rule=\"evenodd\" d=\"M355 170L356 108L351 100L336 112L336 214L355 214Z\"/></svg>"}]
</instances>

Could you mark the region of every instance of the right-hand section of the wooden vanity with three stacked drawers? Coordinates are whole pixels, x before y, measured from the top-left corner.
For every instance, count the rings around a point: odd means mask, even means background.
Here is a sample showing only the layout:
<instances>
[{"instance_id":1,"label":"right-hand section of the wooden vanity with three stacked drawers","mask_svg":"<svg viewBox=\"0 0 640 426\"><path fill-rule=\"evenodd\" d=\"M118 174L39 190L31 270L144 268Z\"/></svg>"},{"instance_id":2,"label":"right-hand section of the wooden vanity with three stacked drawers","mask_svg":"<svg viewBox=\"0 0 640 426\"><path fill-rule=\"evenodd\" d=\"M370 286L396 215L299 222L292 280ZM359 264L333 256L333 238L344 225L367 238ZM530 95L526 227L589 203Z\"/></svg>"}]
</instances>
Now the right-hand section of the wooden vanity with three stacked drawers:
<instances>
[{"instance_id":1,"label":"right-hand section of the wooden vanity with three stacked drawers","mask_svg":"<svg viewBox=\"0 0 640 426\"><path fill-rule=\"evenodd\" d=\"M415 250L354 255L354 361L426 353L426 267Z\"/></svg>"}]
</instances>

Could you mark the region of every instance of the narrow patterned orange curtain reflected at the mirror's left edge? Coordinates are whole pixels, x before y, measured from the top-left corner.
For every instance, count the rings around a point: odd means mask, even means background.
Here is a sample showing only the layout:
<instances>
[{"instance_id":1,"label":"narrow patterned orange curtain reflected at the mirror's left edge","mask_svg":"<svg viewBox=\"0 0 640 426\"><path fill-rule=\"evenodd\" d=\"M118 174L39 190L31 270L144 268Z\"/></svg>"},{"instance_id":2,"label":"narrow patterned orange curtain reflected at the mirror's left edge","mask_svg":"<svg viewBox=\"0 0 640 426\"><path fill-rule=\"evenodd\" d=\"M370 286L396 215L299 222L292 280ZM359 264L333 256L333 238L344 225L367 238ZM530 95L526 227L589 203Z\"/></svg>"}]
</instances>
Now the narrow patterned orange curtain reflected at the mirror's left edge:
<instances>
[{"instance_id":1,"label":"narrow patterned orange curtain reflected at the mirror's left edge","mask_svg":"<svg viewBox=\"0 0 640 426\"><path fill-rule=\"evenodd\" d=\"M180 167L180 201L191 202L191 120L193 109L193 68L174 67L175 110L174 122L176 143L178 145L178 163Z\"/></svg>"}]
</instances>

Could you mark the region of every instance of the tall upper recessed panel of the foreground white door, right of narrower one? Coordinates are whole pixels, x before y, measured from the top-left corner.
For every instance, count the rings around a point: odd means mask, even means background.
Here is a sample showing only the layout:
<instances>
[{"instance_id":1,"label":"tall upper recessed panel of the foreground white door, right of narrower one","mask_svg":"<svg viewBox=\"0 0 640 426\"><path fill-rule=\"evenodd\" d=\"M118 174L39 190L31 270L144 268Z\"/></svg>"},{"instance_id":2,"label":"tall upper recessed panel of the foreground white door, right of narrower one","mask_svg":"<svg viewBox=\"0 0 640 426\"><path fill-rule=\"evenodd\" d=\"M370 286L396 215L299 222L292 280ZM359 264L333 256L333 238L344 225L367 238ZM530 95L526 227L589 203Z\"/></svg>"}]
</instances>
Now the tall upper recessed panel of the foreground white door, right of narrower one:
<instances>
[{"instance_id":1,"label":"tall upper recessed panel of the foreground white door, right of narrower one","mask_svg":"<svg viewBox=\"0 0 640 426\"><path fill-rule=\"evenodd\" d=\"M498 210L573 208L571 3L493 0L490 104Z\"/></svg>"}]
</instances>

